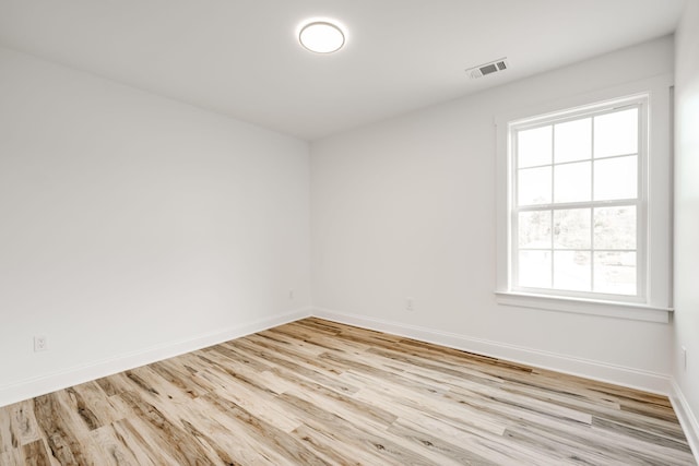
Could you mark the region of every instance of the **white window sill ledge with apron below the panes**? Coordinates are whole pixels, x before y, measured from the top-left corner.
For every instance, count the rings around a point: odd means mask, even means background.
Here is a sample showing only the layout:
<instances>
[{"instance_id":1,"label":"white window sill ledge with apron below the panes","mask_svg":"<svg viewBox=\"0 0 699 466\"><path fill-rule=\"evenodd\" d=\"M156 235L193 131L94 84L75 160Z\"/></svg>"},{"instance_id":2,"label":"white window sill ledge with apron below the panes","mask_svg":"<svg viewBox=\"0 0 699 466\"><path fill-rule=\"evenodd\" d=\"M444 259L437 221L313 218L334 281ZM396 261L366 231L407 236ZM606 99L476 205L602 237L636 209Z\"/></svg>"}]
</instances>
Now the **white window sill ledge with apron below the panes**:
<instances>
[{"instance_id":1,"label":"white window sill ledge with apron below the panes","mask_svg":"<svg viewBox=\"0 0 699 466\"><path fill-rule=\"evenodd\" d=\"M668 323L672 308L659 308L614 301L595 301L523 292L496 291L496 301L502 306L532 308L546 311L571 312L576 314L602 315L633 321Z\"/></svg>"}]
</instances>

